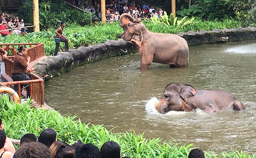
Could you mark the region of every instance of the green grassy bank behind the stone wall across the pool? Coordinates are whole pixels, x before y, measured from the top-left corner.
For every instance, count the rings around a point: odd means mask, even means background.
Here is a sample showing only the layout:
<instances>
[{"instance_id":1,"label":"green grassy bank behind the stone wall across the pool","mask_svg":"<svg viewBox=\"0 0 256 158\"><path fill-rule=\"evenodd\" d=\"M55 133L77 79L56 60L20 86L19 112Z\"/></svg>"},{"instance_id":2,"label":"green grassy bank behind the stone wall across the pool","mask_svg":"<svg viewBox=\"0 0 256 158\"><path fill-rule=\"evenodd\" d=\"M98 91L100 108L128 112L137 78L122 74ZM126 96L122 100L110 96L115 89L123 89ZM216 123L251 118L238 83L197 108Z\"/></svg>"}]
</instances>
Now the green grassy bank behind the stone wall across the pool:
<instances>
[{"instance_id":1,"label":"green grassy bank behind the stone wall across the pool","mask_svg":"<svg viewBox=\"0 0 256 158\"><path fill-rule=\"evenodd\" d=\"M163 24L152 23L144 21L146 27L151 32L165 33L165 34L178 34L180 32L198 31L198 30L213 30L224 28L237 28L241 27L241 21L234 19L225 19L223 21L202 21L194 20L193 25L185 27L166 27ZM18 35L0 36L0 43L34 43L43 42L45 55L49 56L54 53L55 49L55 30L57 28L49 29L45 32L29 33L28 35L21 37ZM119 26L118 22L106 25L94 25L94 26L79 26L77 23L67 24L64 29L64 35L69 39L70 48L78 48L79 46L97 45L104 43L107 40L117 40L118 35L123 32L123 29ZM60 44L60 49L64 49L64 43Z\"/></svg>"}]
</instances>

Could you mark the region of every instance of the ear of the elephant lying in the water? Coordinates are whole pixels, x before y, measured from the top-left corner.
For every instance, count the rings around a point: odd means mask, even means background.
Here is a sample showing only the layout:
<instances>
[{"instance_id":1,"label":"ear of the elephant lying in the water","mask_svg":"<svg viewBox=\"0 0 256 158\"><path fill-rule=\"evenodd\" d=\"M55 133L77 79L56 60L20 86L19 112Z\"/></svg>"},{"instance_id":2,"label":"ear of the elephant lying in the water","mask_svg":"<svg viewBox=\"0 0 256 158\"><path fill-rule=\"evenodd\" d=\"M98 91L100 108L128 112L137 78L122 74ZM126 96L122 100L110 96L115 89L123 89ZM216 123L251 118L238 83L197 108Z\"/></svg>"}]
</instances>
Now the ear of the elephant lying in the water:
<instances>
[{"instance_id":1,"label":"ear of the elephant lying in the water","mask_svg":"<svg viewBox=\"0 0 256 158\"><path fill-rule=\"evenodd\" d=\"M196 94L196 89L190 85L180 85L180 86L181 86L181 88L179 89L178 94L187 103L188 98L190 98Z\"/></svg>"}]
</instances>

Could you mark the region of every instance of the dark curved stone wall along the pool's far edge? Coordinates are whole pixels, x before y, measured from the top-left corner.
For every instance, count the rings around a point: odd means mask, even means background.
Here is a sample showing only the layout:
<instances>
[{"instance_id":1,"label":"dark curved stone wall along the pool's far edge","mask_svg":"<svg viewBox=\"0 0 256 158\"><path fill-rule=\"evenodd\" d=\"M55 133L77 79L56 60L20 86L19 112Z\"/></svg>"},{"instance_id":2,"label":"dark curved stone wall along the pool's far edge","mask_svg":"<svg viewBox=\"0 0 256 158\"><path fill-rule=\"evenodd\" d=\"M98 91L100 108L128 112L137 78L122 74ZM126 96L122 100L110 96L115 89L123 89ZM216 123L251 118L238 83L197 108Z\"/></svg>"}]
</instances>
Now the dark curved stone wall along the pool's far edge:
<instances>
[{"instance_id":1,"label":"dark curved stone wall along the pool's far edge","mask_svg":"<svg viewBox=\"0 0 256 158\"><path fill-rule=\"evenodd\" d=\"M256 39L256 28L246 27L238 29L214 29L212 31L189 31L177 34L185 38L188 45L201 45L205 43L219 43L221 37L228 37L228 41ZM227 38L225 38L227 40ZM118 56L126 53L136 52L136 47L129 41L122 39L117 41L108 40L99 45L79 47L72 49L71 52L60 52L57 56L49 56L34 65L35 71L39 76L47 73L53 76L71 70L73 67L86 64L87 62L97 61L107 57ZM48 78L45 78L49 80Z\"/></svg>"}]
</instances>

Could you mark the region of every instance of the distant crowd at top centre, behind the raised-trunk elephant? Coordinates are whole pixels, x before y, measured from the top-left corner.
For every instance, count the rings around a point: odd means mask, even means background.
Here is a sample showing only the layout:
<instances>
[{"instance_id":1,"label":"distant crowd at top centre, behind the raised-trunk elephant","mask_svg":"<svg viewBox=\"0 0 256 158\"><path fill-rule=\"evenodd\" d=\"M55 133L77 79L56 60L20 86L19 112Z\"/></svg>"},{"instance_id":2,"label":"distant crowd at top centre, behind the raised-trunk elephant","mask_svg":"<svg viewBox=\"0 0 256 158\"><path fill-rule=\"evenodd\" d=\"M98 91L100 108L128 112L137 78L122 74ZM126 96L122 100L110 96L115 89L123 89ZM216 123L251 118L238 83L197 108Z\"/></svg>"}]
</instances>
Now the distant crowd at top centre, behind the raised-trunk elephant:
<instances>
[{"instance_id":1,"label":"distant crowd at top centre, behind the raised-trunk elephant","mask_svg":"<svg viewBox=\"0 0 256 158\"><path fill-rule=\"evenodd\" d=\"M101 8L100 2L92 0L70 0L70 3L78 6L80 9L84 10L86 13L94 13L94 18L101 19ZM141 5L136 4L135 0L128 3L128 0L107 0L106 1L106 20L114 21L119 20L120 15L123 13L128 13L134 18L150 18L152 16L160 17L163 15L163 10L159 8L157 12L153 6L147 5L147 2L141 7Z\"/></svg>"}]
</instances>

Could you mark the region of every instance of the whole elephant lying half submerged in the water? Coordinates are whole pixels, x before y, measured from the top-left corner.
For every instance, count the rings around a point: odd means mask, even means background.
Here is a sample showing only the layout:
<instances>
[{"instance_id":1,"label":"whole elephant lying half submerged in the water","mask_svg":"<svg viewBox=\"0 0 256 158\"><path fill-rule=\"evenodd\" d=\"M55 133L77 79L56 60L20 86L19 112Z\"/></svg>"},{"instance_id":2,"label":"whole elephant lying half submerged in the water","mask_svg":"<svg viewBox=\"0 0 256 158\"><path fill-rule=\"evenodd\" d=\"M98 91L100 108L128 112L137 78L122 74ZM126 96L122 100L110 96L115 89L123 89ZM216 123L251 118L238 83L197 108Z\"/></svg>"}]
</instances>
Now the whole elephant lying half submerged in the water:
<instances>
[{"instance_id":1,"label":"whole elephant lying half submerged in the water","mask_svg":"<svg viewBox=\"0 0 256 158\"><path fill-rule=\"evenodd\" d=\"M171 110L190 112L196 108L205 113L220 112L222 109L245 110L245 105L221 90L196 90L191 85L168 84L157 104L156 110L165 114Z\"/></svg>"}]
</instances>

